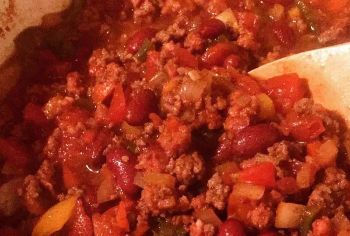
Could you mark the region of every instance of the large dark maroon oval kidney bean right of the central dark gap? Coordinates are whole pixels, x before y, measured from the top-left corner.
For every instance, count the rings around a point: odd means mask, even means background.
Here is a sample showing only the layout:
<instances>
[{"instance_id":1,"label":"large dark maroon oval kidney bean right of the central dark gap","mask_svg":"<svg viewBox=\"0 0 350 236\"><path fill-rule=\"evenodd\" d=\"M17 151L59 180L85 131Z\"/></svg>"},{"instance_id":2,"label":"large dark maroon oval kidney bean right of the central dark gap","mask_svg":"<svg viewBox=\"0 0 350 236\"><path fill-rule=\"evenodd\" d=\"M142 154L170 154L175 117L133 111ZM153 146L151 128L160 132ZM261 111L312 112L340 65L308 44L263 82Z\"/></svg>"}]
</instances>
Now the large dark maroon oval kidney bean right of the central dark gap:
<instances>
[{"instance_id":1,"label":"large dark maroon oval kidney bean right of the central dark gap","mask_svg":"<svg viewBox=\"0 0 350 236\"><path fill-rule=\"evenodd\" d=\"M237 132L233 140L233 154L252 157L272 146L279 137L279 131L270 124L245 127Z\"/></svg>"}]
</instances>

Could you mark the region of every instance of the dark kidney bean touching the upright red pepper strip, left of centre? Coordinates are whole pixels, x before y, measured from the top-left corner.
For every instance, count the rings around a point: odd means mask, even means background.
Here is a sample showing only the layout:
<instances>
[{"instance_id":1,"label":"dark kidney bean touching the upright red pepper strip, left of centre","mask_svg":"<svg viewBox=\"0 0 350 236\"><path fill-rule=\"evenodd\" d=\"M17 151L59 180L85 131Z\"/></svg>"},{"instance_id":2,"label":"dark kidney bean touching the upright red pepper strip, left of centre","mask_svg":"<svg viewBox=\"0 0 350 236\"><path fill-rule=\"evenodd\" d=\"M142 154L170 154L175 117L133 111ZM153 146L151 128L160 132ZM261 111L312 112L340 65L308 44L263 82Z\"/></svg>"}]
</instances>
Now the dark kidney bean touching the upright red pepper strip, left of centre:
<instances>
[{"instance_id":1,"label":"dark kidney bean touching the upright red pepper strip, left of centre","mask_svg":"<svg viewBox=\"0 0 350 236\"><path fill-rule=\"evenodd\" d=\"M148 121L149 113L157 108L158 99L149 89L141 89L137 92L126 91L126 119L130 125L142 125Z\"/></svg>"}]
</instances>

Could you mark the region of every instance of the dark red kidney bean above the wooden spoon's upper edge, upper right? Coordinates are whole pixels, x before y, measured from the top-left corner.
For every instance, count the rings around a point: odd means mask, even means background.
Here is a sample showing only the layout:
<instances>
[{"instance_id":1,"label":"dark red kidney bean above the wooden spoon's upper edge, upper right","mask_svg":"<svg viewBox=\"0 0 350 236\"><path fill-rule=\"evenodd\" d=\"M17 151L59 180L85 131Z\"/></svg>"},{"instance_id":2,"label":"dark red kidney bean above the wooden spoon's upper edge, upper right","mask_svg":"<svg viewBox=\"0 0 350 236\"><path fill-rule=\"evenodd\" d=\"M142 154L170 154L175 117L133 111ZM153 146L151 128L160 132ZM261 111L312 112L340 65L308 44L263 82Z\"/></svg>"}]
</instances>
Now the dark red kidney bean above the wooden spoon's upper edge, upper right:
<instances>
[{"instance_id":1,"label":"dark red kidney bean above the wooden spoon's upper edge, upper right","mask_svg":"<svg viewBox=\"0 0 350 236\"><path fill-rule=\"evenodd\" d=\"M276 21L272 25L272 32L279 42L288 48L294 46L296 42L295 34L288 24L283 21Z\"/></svg>"}]
</instances>

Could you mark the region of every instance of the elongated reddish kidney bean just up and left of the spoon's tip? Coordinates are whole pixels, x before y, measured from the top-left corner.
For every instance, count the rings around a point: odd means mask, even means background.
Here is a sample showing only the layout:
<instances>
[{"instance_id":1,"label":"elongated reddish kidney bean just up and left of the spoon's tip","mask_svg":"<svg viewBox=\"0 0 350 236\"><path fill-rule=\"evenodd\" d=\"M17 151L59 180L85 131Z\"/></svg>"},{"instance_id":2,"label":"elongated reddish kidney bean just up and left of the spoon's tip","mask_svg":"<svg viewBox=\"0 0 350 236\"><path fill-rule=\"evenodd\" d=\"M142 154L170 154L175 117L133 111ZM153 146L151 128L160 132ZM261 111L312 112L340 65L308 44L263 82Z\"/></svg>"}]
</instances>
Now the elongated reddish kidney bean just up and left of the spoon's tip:
<instances>
[{"instance_id":1,"label":"elongated reddish kidney bean just up and left of the spoon's tip","mask_svg":"<svg viewBox=\"0 0 350 236\"><path fill-rule=\"evenodd\" d=\"M237 52L237 45L232 42L213 45L203 53L201 66L207 69L211 69L212 66L221 66L224 59L235 52Z\"/></svg>"}]
</instances>

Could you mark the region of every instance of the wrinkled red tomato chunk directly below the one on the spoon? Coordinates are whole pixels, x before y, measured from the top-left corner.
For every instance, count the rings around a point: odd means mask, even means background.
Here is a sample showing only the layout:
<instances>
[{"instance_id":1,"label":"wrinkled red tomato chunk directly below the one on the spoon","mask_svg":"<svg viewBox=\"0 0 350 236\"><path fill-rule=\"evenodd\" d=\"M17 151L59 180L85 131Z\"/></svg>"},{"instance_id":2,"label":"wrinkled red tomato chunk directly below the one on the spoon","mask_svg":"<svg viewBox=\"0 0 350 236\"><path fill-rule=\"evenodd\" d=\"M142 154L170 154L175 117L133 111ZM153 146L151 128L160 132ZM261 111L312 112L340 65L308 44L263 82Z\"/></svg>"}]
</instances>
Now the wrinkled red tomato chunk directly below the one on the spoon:
<instances>
[{"instance_id":1,"label":"wrinkled red tomato chunk directly below the one on the spoon","mask_svg":"<svg viewBox=\"0 0 350 236\"><path fill-rule=\"evenodd\" d=\"M290 112L281 121L284 134L290 134L300 141L311 141L324 132L322 119L317 116L301 117L296 112Z\"/></svg>"}]
</instances>

